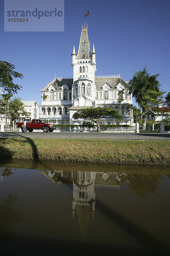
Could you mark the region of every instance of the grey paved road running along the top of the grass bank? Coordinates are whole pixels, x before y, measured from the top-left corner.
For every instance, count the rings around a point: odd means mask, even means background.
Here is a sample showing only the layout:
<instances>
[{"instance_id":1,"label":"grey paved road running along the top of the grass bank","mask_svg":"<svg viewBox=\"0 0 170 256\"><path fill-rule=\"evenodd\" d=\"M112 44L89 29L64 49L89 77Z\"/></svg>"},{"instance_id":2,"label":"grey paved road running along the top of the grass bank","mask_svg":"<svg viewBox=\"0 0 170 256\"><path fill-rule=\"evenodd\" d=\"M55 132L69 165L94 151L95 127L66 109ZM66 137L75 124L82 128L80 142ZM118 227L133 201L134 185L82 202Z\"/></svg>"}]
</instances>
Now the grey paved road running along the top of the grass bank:
<instances>
[{"instance_id":1,"label":"grey paved road running along the top of the grass bank","mask_svg":"<svg viewBox=\"0 0 170 256\"><path fill-rule=\"evenodd\" d=\"M153 133L97 133L97 132L0 132L0 138L67 138L67 139L106 139L106 140L170 140L170 134Z\"/></svg>"}]
</instances>

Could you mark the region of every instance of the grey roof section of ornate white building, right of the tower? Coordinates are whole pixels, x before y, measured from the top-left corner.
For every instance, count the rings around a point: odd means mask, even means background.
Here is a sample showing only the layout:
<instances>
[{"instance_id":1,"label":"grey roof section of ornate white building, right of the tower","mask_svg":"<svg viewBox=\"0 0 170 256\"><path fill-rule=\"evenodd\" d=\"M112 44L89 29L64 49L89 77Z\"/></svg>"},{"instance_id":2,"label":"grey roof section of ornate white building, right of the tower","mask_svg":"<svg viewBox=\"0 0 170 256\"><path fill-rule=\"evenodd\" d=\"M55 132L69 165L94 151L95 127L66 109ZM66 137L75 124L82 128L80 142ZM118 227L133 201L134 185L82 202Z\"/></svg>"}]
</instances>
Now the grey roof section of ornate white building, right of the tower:
<instances>
[{"instance_id":1,"label":"grey roof section of ornate white building, right of the tower","mask_svg":"<svg viewBox=\"0 0 170 256\"><path fill-rule=\"evenodd\" d=\"M130 85L128 82L125 82L121 77L102 77L102 78L95 78L95 84L96 89L99 90L104 84L108 84L111 88L110 90L113 90L113 88L116 87L119 83L122 83L125 88L129 88Z\"/></svg>"}]
</instances>

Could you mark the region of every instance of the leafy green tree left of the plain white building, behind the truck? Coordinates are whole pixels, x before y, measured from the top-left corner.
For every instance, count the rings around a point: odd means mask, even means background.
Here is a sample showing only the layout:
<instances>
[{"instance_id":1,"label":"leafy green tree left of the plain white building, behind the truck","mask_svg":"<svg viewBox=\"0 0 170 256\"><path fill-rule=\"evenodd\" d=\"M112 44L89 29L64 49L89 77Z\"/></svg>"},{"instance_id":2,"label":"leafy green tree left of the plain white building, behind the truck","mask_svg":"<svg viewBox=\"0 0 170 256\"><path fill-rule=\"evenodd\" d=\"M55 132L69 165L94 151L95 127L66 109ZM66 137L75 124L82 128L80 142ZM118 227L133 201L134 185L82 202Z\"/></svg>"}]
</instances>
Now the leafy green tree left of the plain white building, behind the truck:
<instances>
[{"instance_id":1,"label":"leafy green tree left of the plain white building, behind the truck","mask_svg":"<svg viewBox=\"0 0 170 256\"><path fill-rule=\"evenodd\" d=\"M18 119L20 114L22 116L29 115L29 113L27 113L24 110L23 102L21 102L21 98L19 97L18 98L14 97L14 99L12 99L9 102L9 114L10 114L11 120L14 121L14 123L16 123L16 119Z\"/></svg>"}]
</instances>

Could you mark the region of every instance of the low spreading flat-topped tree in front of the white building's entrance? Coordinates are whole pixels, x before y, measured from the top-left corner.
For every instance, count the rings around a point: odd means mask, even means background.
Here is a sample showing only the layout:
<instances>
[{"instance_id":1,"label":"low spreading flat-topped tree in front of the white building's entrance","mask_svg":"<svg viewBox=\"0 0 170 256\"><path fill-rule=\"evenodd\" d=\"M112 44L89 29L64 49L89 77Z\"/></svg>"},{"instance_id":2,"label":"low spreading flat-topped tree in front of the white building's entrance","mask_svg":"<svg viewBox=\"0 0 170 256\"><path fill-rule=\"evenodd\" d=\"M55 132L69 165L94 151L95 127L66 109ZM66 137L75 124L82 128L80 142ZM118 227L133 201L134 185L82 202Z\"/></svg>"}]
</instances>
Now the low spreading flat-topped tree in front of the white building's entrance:
<instances>
[{"instance_id":1,"label":"low spreading flat-topped tree in front of the white building's entrance","mask_svg":"<svg viewBox=\"0 0 170 256\"><path fill-rule=\"evenodd\" d=\"M100 124L99 124L99 119L104 118L105 116L109 117L115 117L118 119L123 119L121 115L119 115L118 111L113 110L111 108L86 108L86 109L80 109L76 113L74 113L73 118L74 119L79 119L79 118L84 118L84 119L90 119L92 122L96 123L97 125L97 131L100 131Z\"/></svg>"}]
</instances>

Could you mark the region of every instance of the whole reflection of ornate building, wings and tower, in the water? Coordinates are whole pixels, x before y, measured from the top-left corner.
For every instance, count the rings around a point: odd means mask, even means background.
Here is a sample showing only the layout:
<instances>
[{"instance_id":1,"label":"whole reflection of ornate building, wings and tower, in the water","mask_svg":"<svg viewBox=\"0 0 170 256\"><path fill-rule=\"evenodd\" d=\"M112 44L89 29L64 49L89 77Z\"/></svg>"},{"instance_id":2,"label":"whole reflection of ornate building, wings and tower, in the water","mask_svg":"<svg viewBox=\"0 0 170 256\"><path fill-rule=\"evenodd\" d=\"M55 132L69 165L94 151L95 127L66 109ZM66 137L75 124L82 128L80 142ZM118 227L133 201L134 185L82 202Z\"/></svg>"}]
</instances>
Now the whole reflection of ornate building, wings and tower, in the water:
<instances>
[{"instance_id":1,"label":"whole reflection of ornate building, wings and tower, in the water","mask_svg":"<svg viewBox=\"0 0 170 256\"><path fill-rule=\"evenodd\" d=\"M72 215L77 210L82 236L86 236L90 212L94 219L97 187L119 188L129 175L116 172L42 171L53 183L73 183Z\"/></svg>"}]
</instances>

